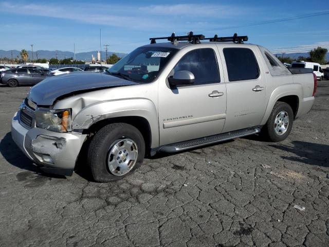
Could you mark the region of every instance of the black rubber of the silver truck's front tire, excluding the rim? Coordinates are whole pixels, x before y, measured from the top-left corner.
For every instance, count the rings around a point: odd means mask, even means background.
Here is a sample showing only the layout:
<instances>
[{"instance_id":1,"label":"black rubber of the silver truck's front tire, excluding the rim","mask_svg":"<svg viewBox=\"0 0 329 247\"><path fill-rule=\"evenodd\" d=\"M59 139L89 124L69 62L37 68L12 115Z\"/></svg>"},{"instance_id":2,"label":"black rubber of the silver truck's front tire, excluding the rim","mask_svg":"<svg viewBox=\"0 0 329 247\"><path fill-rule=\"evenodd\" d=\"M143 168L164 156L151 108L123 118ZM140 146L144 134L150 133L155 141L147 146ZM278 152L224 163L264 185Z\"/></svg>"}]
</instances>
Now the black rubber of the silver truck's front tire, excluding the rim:
<instances>
[{"instance_id":1,"label":"black rubber of the silver truck's front tire, excluding the rim","mask_svg":"<svg viewBox=\"0 0 329 247\"><path fill-rule=\"evenodd\" d=\"M100 135L100 136L98 136ZM101 138L102 137L102 138ZM114 142L118 139L132 139L138 149L138 157L136 164L132 170L122 176L112 174L107 167L108 152L111 150ZM97 142L96 144L92 144ZM145 144L142 134L132 125L126 123L113 123L109 126L103 127L96 133L92 140L92 150L88 150L88 163L92 170L93 178L97 182L116 181L126 177L139 168L143 162L145 155Z\"/></svg>"}]
</instances>

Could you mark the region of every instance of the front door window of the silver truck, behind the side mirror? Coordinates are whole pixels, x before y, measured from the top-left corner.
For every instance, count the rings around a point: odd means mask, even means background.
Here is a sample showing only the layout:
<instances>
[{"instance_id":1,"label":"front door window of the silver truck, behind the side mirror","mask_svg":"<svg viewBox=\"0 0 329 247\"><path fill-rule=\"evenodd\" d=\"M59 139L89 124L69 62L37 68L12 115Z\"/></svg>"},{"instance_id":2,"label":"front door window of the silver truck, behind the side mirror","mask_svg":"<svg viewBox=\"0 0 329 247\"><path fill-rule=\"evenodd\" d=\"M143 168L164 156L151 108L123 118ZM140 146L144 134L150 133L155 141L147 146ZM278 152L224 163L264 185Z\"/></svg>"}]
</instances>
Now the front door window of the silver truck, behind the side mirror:
<instances>
[{"instance_id":1,"label":"front door window of the silver truck, behind the side mirror","mask_svg":"<svg viewBox=\"0 0 329 247\"><path fill-rule=\"evenodd\" d=\"M182 57L174 67L174 72L188 70L194 75L194 85L218 83L220 73L213 49L195 49Z\"/></svg>"}]
</instances>

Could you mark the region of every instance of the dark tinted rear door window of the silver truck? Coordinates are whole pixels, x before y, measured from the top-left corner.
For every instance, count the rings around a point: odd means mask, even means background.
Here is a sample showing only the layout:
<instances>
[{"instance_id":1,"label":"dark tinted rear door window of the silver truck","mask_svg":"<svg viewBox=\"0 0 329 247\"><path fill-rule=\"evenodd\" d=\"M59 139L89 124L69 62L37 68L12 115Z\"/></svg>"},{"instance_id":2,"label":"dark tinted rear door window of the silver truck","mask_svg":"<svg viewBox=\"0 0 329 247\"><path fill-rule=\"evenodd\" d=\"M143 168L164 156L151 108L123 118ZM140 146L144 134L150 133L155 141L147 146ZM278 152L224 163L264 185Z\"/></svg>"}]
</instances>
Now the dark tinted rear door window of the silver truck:
<instances>
[{"instance_id":1,"label":"dark tinted rear door window of the silver truck","mask_svg":"<svg viewBox=\"0 0 329 247\"><path fill-rule=\"evenodd\" d=\"M224 48L229 81L252 80L259 77L256 58L249 48Z\"/></svg>"}]
</instances>

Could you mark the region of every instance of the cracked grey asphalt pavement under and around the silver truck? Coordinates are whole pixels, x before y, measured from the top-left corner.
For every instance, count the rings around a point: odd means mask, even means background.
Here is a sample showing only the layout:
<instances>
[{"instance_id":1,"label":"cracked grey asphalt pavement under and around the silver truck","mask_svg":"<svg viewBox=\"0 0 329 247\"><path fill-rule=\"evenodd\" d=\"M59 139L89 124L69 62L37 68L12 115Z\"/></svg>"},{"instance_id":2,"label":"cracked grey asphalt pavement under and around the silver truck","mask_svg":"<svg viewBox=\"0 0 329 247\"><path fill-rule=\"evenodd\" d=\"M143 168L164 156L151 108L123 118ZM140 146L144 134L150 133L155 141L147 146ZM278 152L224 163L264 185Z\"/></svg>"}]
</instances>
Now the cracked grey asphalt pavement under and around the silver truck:
<instances>
[{"instance_id":1,"label":"cracked grey asphalt pavement under and around the silver truck","mask_svg":"<svg viewBox=\"0 0 329 247\"><path fill-rule=\"evenodd\" d=\"M146 159L113 183L42 173L11 139L29 87L0 87L0 246L329 246L329 81L290 136Z\"/></svg>"}]
</instances>

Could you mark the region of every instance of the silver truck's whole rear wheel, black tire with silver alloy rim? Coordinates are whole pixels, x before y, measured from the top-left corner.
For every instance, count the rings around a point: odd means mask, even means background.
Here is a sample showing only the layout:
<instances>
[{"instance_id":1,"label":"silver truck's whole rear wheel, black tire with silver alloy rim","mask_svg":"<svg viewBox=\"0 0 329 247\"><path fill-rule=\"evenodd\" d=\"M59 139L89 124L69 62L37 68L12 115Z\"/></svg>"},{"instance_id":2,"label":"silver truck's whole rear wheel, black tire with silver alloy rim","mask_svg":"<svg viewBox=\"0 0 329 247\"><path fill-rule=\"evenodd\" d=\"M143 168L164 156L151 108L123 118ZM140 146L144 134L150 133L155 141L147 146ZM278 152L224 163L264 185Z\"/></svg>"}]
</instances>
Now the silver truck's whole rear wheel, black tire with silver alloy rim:
<instances>
[{"instance_id":1,"label":"silver truck's whole rear wheel, black tire with silver alloy rim","mask_svg":"<svg viewBox=\"0 0 329 247\"><path fill-rule=\"evenodd\" d=\"M266 139L270 142L281 142L291 132L294 122L294 112L285 102L276 102L273 110L262 128Z\"/></svg>"}]
</instances>

